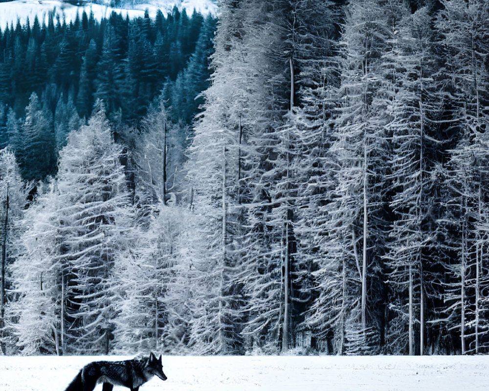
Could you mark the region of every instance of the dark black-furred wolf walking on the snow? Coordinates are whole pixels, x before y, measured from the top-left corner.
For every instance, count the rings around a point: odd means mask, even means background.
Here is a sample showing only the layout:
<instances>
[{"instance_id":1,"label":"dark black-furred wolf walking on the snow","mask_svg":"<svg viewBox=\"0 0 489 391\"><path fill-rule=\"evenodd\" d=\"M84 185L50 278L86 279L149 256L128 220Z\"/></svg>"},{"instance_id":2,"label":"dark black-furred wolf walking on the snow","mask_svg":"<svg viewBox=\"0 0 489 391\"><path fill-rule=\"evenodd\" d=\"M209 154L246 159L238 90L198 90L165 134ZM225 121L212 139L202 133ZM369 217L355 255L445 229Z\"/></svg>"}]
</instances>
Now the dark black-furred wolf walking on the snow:
<instances>
[{"instance_id":1,"label":"dark black-furred wolf walking on the snow","mask_svg":"<svg viewBox=\"0 0 489 391\"><path fill-rule=\"evenodd\" d=\"M161 380L167 379L163 373L161 355L156 358L153 352L149 357L132 360L94 361L78 372L65 391L92 391L99 383L103 383L102 391L112 391L114 385L138 391L155 375Z\"/></svg>"}]
</instances>

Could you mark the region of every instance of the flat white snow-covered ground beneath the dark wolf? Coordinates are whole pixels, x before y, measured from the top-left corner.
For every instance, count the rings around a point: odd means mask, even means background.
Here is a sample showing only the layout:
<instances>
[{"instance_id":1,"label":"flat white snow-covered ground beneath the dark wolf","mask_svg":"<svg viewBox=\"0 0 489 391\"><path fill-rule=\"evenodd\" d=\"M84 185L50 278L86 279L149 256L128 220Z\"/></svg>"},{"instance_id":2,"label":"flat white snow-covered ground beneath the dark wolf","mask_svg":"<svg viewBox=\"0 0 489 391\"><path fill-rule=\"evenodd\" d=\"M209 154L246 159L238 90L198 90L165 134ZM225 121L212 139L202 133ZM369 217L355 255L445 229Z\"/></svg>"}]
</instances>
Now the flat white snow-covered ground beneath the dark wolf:
<instances>
[{"instance_id":1,"label":"flat white snow-covered ground beneath the dark wolf","mask_svg":"<svg viewBox=\"0 0 489 391\"><path fill-rule=\"evenodd\" d=\"M100 359L121 358L0 357L0 390L63 391ZM489 384L489 356L163 357L163 370L166 382L155 377L140 391L474 391Z\"/></svg>"}]
</instances>

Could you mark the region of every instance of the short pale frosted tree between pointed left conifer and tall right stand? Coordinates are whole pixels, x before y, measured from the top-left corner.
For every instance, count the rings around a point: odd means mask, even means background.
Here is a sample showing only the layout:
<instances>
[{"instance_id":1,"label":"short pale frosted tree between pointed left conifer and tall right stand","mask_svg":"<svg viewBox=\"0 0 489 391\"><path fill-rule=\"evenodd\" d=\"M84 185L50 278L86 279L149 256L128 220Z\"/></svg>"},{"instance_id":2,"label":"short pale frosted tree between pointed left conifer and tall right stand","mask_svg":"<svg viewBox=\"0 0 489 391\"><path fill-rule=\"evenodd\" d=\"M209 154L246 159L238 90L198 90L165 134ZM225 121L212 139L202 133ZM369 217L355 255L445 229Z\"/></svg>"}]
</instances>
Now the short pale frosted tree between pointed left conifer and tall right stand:
<instances>
[{"instance_id":1,"label":"short pale frosted tree between pointed left conifer and tall right stand","mask_svg":"<svg viewBox=\"0 0 489 391\"><path fill-rule=\"evenodd\" d=\"M134 228L132 250L120 254L114 268L121 292L115 299L116 351L185 348L190 320L185 291L192 280L181 275L180 236L190 218L186 210L159 204L149 227Z\"/></svg>"}]
</instances>

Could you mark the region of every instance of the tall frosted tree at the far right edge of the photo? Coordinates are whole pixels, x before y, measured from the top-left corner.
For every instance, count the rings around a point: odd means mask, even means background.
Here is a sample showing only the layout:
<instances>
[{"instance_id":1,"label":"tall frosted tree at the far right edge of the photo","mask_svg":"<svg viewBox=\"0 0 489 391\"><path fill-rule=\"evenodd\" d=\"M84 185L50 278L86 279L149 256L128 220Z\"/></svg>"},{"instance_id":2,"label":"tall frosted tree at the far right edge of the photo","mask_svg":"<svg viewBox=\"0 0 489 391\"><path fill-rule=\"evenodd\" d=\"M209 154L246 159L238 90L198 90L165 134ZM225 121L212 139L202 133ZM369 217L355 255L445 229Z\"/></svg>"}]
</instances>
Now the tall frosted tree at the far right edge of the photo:
<instances>
[{"instance_id":1,"label":"tall frosted tree at the far right edge of the photo","mask_svg":"<svg viewBox=\"0 0 489 391\"><path fill-rule=\"evenodd\" d=\"M445 123L456 142L445 180L442 218L445 263L444 320L447 331L460 331L460 352L479 352L481 342L481 280L485 234L480 225L487 181L488 47L487 1L444 1L437 22L438 43L445 64L438 83L445 104ZM482 312L481 312L482 311ZM485 326L483 326L485 327ZM457 348L458 350L458 348Z\"/></svg>"}]
</instances>

